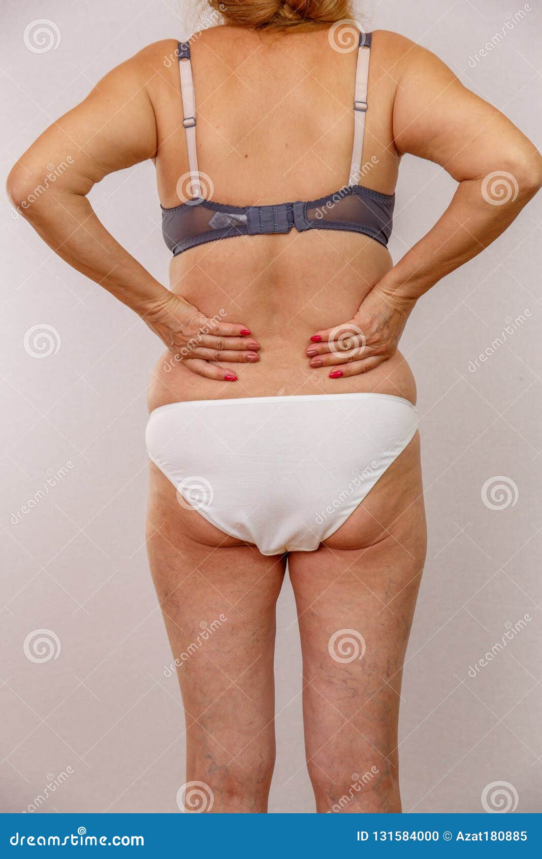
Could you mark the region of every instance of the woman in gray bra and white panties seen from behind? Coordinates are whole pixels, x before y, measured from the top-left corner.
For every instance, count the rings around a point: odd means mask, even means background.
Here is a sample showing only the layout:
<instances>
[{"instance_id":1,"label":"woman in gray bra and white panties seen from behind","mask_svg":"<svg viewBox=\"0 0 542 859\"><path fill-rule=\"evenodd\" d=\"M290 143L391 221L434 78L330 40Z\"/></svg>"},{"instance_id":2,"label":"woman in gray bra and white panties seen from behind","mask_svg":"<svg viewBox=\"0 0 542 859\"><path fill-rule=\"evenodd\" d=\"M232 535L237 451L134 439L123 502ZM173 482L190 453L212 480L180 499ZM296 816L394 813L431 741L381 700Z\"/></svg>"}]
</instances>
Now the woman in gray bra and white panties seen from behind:
<instances>
[{"instance_id":1,"label":"woman in gray bra and white panties seen from behind","mask_svg":"<svg viewBox=\"0 0 542 859\"><path fill-rule=\"evenodd\" d=\"M346 795L344 812L399 812L399 693L426 543L399 338L418 299L521 212L541 161L432 53L362 32L347 0L210 6L223 24L113 69L21 156L9 193L166 349L149 387L148 547L180 666L186 807L266 811L288 562L317 811ZM70 168L25 209L67 152ZM404 153L458 186L393 265ZM149 159L168 289L87 198ZM204 618L220 620L199 648ZM372 777L352 791L354 769Z\"/></svg>"}]
</instances>

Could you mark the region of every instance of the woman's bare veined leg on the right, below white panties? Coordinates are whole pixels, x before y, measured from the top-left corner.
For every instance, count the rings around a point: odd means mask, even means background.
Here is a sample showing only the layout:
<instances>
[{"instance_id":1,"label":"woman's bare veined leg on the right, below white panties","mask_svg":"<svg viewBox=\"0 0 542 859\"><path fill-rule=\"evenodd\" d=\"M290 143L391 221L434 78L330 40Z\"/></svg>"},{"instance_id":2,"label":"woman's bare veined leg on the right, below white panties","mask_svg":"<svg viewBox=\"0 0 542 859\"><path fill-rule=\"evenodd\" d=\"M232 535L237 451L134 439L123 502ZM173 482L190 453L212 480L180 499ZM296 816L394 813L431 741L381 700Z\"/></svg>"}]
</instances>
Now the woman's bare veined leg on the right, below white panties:
<instances>
[{"instance_id":1,"label":"woman's bare veined leg on the right, below white panties","mask_svg":"<svg viewBox=\"0 0 542 859\"><path fill-rule=\"evenodd\" d=\"M401 811L399 696L424 558L419 436L326 545L289 555L318 812Z\"/></svg>"}]
</instances>

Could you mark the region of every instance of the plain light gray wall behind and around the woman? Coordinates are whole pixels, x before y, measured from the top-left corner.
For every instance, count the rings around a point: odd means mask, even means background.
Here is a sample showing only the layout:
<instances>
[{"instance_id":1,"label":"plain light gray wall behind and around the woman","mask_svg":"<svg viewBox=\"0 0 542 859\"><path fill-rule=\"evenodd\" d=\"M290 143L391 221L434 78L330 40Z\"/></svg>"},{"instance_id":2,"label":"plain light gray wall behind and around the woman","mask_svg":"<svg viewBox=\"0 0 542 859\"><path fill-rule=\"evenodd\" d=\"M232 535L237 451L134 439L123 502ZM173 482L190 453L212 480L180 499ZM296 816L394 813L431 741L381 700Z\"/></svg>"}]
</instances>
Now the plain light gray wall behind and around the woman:
<instances>
[{"instance_id":1,"label":"plain light gray wall behind and around the woman","mask_svg":"<svg viewBox=\"0 0 542 859\"><path fill-rule=\"evenodd\" d=\"M198 28L183 9L174 0L3 0L3 174L119 61ZM539 143L540 11L469 65L518 9L509 0L382 0L368 21L429 47ZM61 33L58 47L42 54L23 44L25 27L39 18ZM435 222L453 190L442 170L405 158L393 259ZM107 178L91 199L166 283L152 165ZM56 259L5 198L1 206L2 808L23 811L70 766L42 811L176 812L183 716L176 679L162 673L171 656L143 545L145 387L161 344ZM503 781L517 792L518 812L541 810L540 217L535 201L486 253L438 284L402 341L417 377L429 520L400 726L406 812L479 812L484 788ZM526 310L526 321L471 372L505 318ZM39 324L61 337L57 354L41 360L23 345ZM68 461L69 473L14 524L12 515ZM490 509L481 491L497 476L514 497L517 487L517 501ZM526 614L526 628L469 677L469 666ZM271 811L312 812L288 582L277 625ZM23 653L25 637L39 629L61 642L58 658L42 664Z\"/></svg>"}]
</instances>

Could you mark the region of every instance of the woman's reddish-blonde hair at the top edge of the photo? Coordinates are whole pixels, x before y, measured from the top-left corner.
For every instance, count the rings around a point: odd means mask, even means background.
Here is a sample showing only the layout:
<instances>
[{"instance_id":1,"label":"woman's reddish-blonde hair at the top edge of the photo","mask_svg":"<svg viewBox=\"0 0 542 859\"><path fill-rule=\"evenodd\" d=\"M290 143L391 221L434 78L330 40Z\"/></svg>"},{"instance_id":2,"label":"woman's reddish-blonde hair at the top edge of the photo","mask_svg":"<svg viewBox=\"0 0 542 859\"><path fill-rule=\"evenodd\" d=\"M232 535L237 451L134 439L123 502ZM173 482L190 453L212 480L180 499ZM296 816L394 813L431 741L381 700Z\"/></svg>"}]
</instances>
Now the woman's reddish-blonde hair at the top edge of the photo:
<instances>
[{"instance_id":1,"label":"woman's reddish-blonde hair at the top edge of the photo","mask_svg":"<svg viewBox=\"0 0 542 859\"><path fill-rule=\"evenodd\" d=\"M256 30L313 30L351 20L350 0L208 0L224 22Z\"/></svg>"}]
</instances>

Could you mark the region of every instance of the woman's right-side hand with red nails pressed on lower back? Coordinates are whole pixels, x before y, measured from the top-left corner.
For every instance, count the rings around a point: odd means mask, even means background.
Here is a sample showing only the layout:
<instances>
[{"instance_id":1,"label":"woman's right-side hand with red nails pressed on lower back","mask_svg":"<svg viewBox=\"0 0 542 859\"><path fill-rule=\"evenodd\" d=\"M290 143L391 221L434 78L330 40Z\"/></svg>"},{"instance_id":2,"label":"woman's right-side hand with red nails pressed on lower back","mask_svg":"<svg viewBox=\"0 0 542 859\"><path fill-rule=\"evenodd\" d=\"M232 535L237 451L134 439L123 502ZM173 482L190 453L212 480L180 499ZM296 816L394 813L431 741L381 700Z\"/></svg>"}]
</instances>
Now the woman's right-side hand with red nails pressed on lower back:
<instances>
[{"instance_id":1,"label":"woman's right-side hand with red nails pressed on lower back","mask_svg":"<svg viewBox=\"0 0 542 859\"><path fill-rule=\"evenodd\" d=\"M314 332L307 348L310 366L330 367L330 379L375 369L395 355L415 304L376 285L351 320Z\"/></svg>"}]
</instances>

